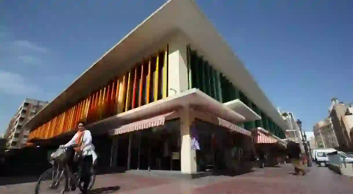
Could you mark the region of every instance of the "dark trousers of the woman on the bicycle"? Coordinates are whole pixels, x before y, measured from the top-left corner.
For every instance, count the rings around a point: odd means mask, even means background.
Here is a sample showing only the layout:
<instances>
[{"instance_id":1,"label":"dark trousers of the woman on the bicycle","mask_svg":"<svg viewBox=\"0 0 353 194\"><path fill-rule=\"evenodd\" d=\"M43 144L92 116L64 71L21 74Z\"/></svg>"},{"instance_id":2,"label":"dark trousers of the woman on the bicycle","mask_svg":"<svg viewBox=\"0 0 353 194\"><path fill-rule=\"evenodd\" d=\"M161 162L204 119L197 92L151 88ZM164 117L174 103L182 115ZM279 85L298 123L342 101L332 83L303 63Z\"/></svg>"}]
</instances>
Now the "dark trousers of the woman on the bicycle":
<instances>
[{"instance_id":1,"label":"dark trousers of the woman on the bicycle","mask_svg":"<svg viewBox=\"0 0 353 194\"><path fill-rule=\"evenodd\" d=\"M77 162L74 162L72 165L72 172L75 173L79 169L81 180L83 182L83 192L82 194L86 194L89 183L91 181L91 169L92 169L93 158L92 155L84 156L80 158Z\"/></svg>"}]
</instances>

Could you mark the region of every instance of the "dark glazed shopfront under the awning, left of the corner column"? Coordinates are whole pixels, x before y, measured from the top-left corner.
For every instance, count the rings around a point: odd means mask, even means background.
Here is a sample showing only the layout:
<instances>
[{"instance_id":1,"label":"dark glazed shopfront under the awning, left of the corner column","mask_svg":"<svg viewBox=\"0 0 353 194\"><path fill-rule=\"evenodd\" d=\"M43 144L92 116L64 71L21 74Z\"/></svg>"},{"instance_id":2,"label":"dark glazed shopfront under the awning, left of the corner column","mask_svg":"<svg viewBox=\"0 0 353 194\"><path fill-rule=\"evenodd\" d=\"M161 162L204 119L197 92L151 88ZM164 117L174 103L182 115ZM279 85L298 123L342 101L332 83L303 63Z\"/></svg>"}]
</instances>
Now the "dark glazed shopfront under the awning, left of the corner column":
<instances>
[{"instance_id":1,"label":"dark glazed shopfront under the awning, left of the corner column","mask_svg":"<svg viewBox=\"0 0 353 194\"><path fill-rule=\"evenodd\" d=\"M179 119L166 121L163 126L118 136L118 166L128 166L127 170L181 169Z\"/></svg>"}]
</instances>

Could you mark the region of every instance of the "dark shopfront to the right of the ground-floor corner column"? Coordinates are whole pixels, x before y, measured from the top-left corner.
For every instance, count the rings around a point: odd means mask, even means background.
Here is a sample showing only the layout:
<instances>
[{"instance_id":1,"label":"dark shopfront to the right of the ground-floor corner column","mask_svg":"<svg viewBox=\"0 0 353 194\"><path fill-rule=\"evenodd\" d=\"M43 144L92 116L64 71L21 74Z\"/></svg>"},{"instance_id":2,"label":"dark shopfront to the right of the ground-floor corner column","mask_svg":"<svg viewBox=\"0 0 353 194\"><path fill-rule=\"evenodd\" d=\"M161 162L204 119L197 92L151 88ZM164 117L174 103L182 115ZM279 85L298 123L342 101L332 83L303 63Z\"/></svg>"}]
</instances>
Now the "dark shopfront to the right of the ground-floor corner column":
<instances>
[{"instance_id":1,"label":"dark shopfront to the right of the ground-floor corner column","mask_svg":"<svg viewBox=\"0 0 353 194\"><path fill-rule=\"evenodd\" d=\"M201 120L195 121L192 131L200 145L196 150L197 171L248 168L251 151L246 145L252 143L250 137Z\"/></svg>"}]
</instances>

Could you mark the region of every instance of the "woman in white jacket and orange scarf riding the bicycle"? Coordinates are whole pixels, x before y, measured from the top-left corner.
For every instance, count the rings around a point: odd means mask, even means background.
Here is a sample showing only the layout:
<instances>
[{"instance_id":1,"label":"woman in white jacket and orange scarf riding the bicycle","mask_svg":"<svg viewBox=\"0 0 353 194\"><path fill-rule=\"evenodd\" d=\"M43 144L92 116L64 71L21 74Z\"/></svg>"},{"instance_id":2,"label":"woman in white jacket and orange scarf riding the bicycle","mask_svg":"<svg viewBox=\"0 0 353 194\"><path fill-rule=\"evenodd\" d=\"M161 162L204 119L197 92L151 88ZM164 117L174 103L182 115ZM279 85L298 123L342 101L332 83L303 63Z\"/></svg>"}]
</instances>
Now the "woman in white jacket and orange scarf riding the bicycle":
<instances>
[{"instance_id":1,"label":"woman in white jacket and orange scarf riding the bicycle","mask_svg":"<svg viewBox=\"0 0 353 194\"><path fill-rule=\"evenodd\" d=\"M62 146L69 147L72 145L77 145L77 147L74 147L74 150L76 152L74 156L74 158L76 158L74 159L74 163L76 163L76 165L74 164L73 166L80 166L81 180L83 182L82 194L87 193L92 173L91 169L95 160L97 159L97 154L94 151L95 147L92 144L91 132L89 130L86 130L85 125L85 121L79 121L77 123L78 132L67 144Z\"/></svg>"}]
</instances>

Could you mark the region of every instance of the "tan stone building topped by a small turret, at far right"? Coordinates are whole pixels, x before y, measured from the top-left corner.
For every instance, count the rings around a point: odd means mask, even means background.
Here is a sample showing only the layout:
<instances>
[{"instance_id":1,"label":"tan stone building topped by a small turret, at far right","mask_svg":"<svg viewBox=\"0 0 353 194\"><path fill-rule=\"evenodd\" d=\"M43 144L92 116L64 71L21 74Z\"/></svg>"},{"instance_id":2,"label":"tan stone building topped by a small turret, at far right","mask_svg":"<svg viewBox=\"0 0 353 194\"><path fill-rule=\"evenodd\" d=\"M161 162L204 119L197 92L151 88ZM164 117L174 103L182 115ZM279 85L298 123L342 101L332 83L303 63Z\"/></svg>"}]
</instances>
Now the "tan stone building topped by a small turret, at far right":
<instances>
[{"instance_id":1,"label":"tan stone building topped by a small turret, at far right","mask_svg":"<svg viewBox=\"0 0 353 194\"><path fill-rule=\"evenodd\" d=\"M348 104L338 101L337 98L331 99L329 117L331 119L339 147L342 151L350 151L351 148L351 140L349 138L350 128L347 129L344 123L344 117L348 108Z\"/></svg>"}]
</instances>

